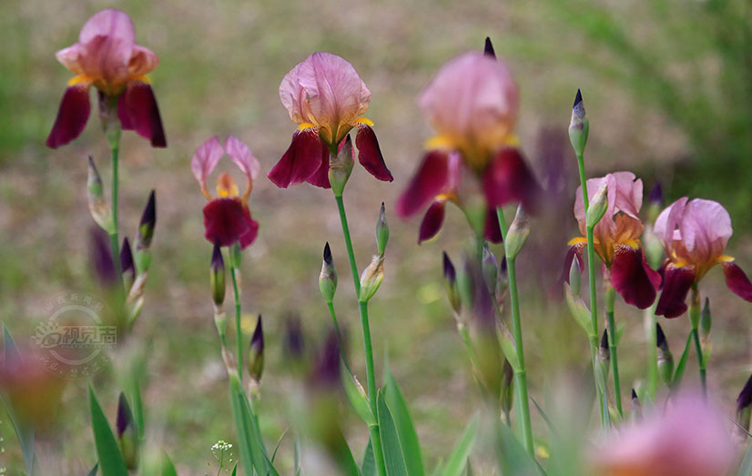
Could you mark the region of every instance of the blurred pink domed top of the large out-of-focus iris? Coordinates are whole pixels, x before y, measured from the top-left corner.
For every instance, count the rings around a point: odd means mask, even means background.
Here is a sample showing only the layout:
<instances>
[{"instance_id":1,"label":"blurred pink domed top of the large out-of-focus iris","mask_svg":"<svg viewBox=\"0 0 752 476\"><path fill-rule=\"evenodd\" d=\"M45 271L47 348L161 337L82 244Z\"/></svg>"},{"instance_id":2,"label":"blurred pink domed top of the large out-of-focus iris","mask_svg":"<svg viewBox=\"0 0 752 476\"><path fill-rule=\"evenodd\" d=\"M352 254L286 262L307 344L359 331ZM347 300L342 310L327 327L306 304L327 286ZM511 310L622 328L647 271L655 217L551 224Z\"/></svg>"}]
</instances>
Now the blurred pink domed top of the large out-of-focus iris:
<instances>
[{"instance_id":1,"label":"blurred pink domed top of the large out-of-focus iris","mask_svg":"<svg viewBox=\"0 0 752 476\"><path fill-rule=\"evenodd\" d=\"M419 99L442 136L491 151L513 133L519 93L503 61L471 52L442 66Z\"/></svg>"}]
</instances>

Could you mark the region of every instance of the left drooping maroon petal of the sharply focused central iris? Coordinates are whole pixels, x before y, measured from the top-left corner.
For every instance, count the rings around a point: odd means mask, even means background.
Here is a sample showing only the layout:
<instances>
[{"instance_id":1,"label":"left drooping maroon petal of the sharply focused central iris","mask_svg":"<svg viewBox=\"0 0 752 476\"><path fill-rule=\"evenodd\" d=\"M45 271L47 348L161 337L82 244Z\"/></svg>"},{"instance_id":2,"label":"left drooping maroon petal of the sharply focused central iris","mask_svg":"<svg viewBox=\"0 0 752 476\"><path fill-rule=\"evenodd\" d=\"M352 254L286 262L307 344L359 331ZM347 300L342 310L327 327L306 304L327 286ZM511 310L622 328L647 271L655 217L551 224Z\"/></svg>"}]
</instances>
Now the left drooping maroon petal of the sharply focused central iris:
<instances>
[{"instance_id":1,"label":"left drooping maroon petal of the sharply focused central iris","mask_svg":"<svg viewBox=\"0 0 752 476\"><path fill-rule=\"evenodd\" d=\"M320 172L321 157L325 153L328 153L327 147L321 142L316 128L296 130L292 135L290 147L277 165L269 171L267 177L280 188L305 182L310 176ZM320 177L318 178L315 181L320 182Z\"/></svg>"}]
</instances>

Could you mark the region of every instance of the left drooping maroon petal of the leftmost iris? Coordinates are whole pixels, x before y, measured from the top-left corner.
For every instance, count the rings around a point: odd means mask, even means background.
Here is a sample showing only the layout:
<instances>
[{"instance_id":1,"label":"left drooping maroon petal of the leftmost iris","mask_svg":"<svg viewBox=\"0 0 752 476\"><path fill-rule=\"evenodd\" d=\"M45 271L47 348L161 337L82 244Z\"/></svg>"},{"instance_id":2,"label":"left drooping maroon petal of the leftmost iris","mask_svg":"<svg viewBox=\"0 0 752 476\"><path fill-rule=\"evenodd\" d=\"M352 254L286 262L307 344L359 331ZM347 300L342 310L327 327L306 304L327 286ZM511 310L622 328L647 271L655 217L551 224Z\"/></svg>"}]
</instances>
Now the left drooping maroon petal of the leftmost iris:
<instances>
[{"instance_id":1,"label":"left drooping maroon petal of the leftmost iris","mask_svg":"<svg viewBox=\"0 0 752 476\"><path fill-rule=\"evenodd\" d=\"M60 108L57 110L55 125L47 137L46 146L57 148L80 136L86 127L91 103L89 103L89 84L79 83L68 86Z\"/></svg>"}]
</instances>

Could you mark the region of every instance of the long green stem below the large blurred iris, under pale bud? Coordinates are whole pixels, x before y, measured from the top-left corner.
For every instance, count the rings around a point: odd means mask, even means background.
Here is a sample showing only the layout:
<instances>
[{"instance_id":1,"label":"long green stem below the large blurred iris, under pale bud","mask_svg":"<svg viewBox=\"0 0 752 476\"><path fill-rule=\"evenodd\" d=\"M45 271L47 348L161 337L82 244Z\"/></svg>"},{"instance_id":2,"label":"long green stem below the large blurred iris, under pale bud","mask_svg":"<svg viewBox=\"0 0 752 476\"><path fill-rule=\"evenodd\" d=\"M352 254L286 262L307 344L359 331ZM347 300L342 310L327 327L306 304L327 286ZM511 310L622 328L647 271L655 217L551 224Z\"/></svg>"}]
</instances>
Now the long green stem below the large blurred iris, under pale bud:
<instances>
[{"instance_id":1,"label":"long green stem below the large blurred iris, under pale bud","mask_svg":"<svg viewBox=\"0 0 752 476\"><path fill-rule=\"evenodd\" d=\"M496 208L496 215L499 217L499 225L502 229L502 238L504 244L506 240L506 220L502 208ZM517 293L517 269L516 257L506 259L507 273L509 274L509 302L512 307L512 336L514 339L514 349L517 353L519 367L514 369L514 387L517 389L518 402L522 419L520 421L523 430L523 445L525 450L531 455L534 454L533 445L533 426L530 422L530 401L527 393L527 373L524 368L524 351L523 351L523 327L520 321L520 299Z\"/></svg>"}]
</instances>

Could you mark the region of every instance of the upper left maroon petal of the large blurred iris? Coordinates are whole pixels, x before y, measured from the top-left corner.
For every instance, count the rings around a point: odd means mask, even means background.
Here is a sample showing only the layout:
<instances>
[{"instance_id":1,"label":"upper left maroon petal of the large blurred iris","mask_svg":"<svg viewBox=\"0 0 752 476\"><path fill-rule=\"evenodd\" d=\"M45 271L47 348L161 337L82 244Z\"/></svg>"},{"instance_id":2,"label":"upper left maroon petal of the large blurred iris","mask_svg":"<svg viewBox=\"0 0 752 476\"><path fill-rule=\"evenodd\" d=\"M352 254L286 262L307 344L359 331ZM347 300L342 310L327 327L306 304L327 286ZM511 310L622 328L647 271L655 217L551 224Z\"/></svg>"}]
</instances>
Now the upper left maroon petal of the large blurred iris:
<instances>
[{"instance_id":1,"label":"upper left maroon petal of the large blurred iris","mask_svg":"<svg viewBox=\"0 0 752 476\"><path fill-rule=\"evenodd\" d=\"M397 200L397 214L410 217L420 210L433 197L442 193L449 180L448 157L442 151L428 152L418 171L412 176L410 185Z\"/></svg>"}]
</instances>

